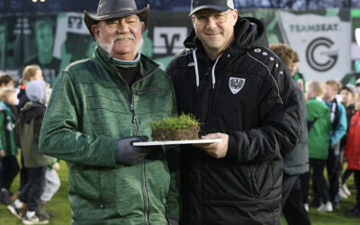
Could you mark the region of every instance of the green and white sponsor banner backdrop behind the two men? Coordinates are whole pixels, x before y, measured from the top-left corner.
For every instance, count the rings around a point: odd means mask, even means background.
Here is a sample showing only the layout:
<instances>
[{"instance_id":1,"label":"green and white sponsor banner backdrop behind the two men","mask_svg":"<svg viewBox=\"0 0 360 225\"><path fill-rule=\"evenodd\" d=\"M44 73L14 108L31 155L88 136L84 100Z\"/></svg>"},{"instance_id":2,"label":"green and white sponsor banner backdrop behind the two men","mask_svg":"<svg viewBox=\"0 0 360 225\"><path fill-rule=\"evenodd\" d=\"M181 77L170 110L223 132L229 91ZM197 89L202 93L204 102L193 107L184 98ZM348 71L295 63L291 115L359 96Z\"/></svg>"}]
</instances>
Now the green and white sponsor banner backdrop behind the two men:
<instances>
[{"instance_id":1,"label":"green and white sponsor banner backdrop behind the two men","mask_svg":"<svg viewBox=\"0 0 360 225\"><path fill-rule=\"evenodd\" d=\"M239 10L266 25L269 42L285 42L300 57L308 80L341 78L351 70L351 23L348 10ZM70 62L89 58L96 42L84 14L0 15L0 70L21 78L23 67L38 64L51 84ZM166 68L192 29L188 12L152 11L141 52Z\"/></svg>"}]
</instances>

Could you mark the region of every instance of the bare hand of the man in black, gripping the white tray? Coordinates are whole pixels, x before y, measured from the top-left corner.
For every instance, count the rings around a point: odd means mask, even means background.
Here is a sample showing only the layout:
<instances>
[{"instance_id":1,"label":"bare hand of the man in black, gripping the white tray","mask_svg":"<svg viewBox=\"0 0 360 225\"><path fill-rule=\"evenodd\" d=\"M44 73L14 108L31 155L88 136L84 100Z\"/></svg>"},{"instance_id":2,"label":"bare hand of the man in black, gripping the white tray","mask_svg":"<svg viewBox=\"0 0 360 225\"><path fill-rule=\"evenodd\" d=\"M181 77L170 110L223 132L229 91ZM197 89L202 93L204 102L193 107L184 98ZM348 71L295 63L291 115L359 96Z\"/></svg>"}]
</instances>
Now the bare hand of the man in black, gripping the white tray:
<instances>
[{"instance_id":1,"label":"bare hand of the man in black, gripping the white tray","mask_svg":"<svg viewBox=\"0 0 360 225\"><path fill-rule=\"evenodd\" d=\"M202 139L221 139L220 142L211 144L193 144L194 147L202 148L211 157L221 158L225 157L228 152L229 135L225 133L211 133L202 136Z\"/></svg>"}]
</instances>

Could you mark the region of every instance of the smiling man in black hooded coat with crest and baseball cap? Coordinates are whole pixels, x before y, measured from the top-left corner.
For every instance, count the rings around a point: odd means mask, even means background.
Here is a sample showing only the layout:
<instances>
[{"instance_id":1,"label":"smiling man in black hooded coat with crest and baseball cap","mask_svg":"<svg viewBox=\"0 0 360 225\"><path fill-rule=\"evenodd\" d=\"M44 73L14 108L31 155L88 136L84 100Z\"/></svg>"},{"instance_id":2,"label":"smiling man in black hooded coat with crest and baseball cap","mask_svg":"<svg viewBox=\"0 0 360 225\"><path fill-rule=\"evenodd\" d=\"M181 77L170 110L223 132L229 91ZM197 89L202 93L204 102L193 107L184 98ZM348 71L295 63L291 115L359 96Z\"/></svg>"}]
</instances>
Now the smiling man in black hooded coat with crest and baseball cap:
<instances>
[{"instance_id":1,"label":"smiling man in black hooded coat with crest and baseball cap","mask_svg":"<svg viewBox=\"0 0 360 225\"><path fill-rule=\"evenodd\" d=\"M186 49L166 71L178 112L221 141L181 150L181 223L280 224L282 159L300 130L290 72L233 1L193 0L190 16Z\"/></svg>"}]
</instances>

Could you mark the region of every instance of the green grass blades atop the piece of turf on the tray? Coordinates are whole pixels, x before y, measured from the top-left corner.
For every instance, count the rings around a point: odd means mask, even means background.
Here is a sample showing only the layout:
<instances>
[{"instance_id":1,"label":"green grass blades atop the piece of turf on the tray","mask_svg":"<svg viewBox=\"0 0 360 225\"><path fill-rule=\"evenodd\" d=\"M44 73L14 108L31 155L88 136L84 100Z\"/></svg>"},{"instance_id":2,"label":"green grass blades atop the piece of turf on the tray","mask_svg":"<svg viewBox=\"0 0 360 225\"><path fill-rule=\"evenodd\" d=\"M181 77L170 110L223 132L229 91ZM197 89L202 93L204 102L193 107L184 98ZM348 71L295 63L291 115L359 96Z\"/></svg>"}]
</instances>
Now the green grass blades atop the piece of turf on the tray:
<instances>
[{"instance_id":1,"label":"green grass blades atop the piece of turf on the tray","mask_svg":"<svg viewBox=\"0 0 360 225\"><path fill-rule=\"evenodd\" d=\"M153 130L163 128L168 130L180 130L187 129L191 126L195 126L199 129L199 122L196 121L193 115L181 114L179 117L167 117L161 121L151 122L151 128Z\"/></svg>"}]
</instances>

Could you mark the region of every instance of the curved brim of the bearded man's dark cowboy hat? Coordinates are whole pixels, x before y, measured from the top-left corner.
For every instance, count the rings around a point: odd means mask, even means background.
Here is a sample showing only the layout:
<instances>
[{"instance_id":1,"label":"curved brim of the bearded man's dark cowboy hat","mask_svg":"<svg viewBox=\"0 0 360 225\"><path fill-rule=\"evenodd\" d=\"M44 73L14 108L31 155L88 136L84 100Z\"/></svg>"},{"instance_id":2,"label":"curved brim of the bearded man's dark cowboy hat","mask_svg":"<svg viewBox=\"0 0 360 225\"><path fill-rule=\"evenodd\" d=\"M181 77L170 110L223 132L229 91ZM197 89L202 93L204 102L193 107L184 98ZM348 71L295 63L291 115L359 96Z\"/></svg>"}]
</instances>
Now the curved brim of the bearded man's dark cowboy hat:
<instances>
[{"instance_id":1,"label":"curved brim of the bearded man's dark cowboy hat","mask_svg":"<svg viewBox=\"0 0 360 225\"><path fill-rule=\"evenodd\" d=\"M150 6L147 5L146 7L140 9L140 10L136 10L136 11L130 11L130 12L121 12L118 14L107 14L107 15L100 15L100 16L96 16L94 14L88 14L86 12L86 10L84 11L84 22L86 24L87 29L90 31L91 35L94 37L94 33L93 33L93 25L96 23L99 23L103 20L109 20L109 19L114 19L114 18L123 18L123 17L127 17L130 15L138 15L139 16L139 20L143 23L145 23L145 27L148 24L148 14L150 12Z\"/></svg>"}]
</instances>

